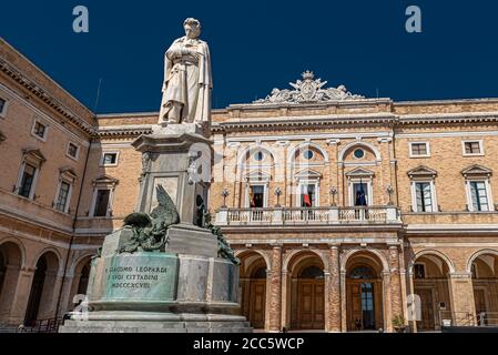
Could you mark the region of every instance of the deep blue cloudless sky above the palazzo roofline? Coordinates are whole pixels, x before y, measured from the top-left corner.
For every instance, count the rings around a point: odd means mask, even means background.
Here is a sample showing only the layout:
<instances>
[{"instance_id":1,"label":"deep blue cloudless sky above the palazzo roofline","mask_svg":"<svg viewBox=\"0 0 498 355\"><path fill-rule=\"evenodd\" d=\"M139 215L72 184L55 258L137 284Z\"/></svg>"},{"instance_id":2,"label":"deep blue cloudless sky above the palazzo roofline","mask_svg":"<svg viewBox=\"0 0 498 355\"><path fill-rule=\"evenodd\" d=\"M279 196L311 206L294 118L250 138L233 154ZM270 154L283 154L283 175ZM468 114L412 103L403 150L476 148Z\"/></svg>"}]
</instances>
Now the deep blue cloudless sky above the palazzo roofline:
<instances>
[{"instance_id":1,"label":"deep blue cloudless sky above the palazzo roofline","mask_svg":"<svg viewBox=\"0 0 498 355\"><path fill-rule=\"evenodd\" d=\"M72 9L90 33L72 31ZM405 31L419 6L423 33ZM96 112L157 111L163 53L195 17L213 60L213 105L251 102L312 70L331 85L394 100L498 97L491 0L118 1L2 3L0 36Z\"/></svg>"}]
</instances>

